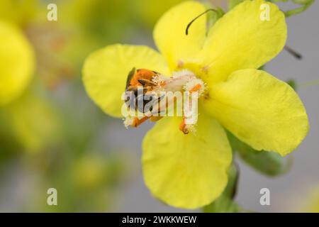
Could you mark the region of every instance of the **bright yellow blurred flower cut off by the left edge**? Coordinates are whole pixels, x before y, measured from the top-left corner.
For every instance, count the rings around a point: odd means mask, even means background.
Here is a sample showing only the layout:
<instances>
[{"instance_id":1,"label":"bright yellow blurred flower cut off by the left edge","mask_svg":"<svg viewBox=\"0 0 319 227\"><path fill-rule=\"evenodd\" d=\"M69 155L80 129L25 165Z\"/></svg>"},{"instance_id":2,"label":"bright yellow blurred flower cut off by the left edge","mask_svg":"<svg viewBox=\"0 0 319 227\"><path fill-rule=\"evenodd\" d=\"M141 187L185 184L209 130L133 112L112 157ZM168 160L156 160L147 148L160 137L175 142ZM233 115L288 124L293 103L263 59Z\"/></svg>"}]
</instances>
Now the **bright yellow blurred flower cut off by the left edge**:
<instances>
[{"instance_id":1,"label":"bright yellow blurred flower cut off by the left edge","mask_svg":"<svg viewBox=\"0 0 319 227\"><path fill-rule=\"evenodd\" d=\"M0 106L16 99L33 76L35 57L26 37L0 21Z\"/></svg>"}]
</instances>

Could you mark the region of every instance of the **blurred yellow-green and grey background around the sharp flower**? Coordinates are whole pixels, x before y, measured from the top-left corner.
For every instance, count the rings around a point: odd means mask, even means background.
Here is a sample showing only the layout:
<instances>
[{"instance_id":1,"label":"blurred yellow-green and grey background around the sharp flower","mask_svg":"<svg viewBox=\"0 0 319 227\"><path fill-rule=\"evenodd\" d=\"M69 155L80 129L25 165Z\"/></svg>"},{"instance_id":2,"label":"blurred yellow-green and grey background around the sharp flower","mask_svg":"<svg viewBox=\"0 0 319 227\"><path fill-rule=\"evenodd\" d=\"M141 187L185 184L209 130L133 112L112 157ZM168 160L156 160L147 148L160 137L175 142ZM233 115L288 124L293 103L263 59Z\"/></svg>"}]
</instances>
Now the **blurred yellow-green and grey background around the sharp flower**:
<instances>
[{"instance_id":1,"label":"blurred yellow-green and grey background around the sharp flower","mask_svg":"<svg viewBox=\"0 0 319 227\"><path fill-rule=\"evenodd\" d=\"M186 211L154 199L142 180L141 143L152 123L125 129L121 120L109 118L94 105L81 78L84 59L94 50L113 43L155 47L153 26L181 1L0 1L0 89L23 87L10 97L0 92L1 212ZM52 3L57 5L57 21L47 20L47 6ZM226 1L206 4L227 9ZM303 59L283 51L265 66L279 79L296 82L310 132L289 155L293 165L286 175L263 176L237 158L236 201L247 210L319 208L318 7L316 1L307 11L287 18L287 45L301 52ZM31 52L30 60L20 60L30 68L28 75L22 73L30 77L22 85L4 79L16 70L9 60L23 56L20 45ZM270 206L259 204L259 190L264 187L271 192ZM57 189L57 206L47 205L49 188Z\"/></svg>"}]
</instances>

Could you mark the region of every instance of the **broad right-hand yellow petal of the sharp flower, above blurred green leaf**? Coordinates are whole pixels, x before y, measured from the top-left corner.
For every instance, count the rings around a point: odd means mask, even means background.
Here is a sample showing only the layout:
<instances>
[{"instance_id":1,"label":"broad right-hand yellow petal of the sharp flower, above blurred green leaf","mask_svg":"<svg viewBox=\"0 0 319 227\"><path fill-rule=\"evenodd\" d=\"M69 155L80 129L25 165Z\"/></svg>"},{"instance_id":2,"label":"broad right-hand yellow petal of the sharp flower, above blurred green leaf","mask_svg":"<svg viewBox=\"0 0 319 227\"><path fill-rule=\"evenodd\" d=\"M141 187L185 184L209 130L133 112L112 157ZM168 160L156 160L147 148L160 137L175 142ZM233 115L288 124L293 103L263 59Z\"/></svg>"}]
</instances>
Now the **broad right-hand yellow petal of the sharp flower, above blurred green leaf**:
<instances>
[{"instance_id":1,"label":"broad right-hand yellow petal of the sharp flower, above blurred green leaf","mask_svg":"<svg viewBox=\"0 0 319 227\"><path fill-rule=\"evenodd\" d=\"M260 70L238 70L211 87L206 110L256 150L286 155L308 133L308 116L298 94Z\"/></svg>"}]
</instances>

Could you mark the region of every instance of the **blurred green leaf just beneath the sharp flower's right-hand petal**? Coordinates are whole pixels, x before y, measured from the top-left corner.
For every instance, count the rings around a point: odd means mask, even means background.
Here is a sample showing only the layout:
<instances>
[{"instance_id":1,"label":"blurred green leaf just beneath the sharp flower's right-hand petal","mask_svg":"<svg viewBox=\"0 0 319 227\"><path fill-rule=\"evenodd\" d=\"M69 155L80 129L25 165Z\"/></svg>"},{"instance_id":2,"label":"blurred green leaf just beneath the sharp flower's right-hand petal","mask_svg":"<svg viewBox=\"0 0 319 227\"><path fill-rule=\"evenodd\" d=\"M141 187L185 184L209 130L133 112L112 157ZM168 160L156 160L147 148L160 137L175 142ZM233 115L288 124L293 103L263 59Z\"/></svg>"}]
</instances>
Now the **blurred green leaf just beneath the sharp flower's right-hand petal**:
<instances>
[{"instance_id":1,"label":"blurred green leaf just beneath the sharp flower's right-hand petal","mask_svg":"<svg viewBox=\"0 0 319 227\"><path fill-rule=\"evenodd\" d=\"M238 140L234 135L228 133L230 145L236 151L239 157L259 172L271 177L283 175L291 167L291 159L288 162L284 161L278 153L269 151L258 151L251 148L249 145Z\"/></svg>"}]
</instances>

